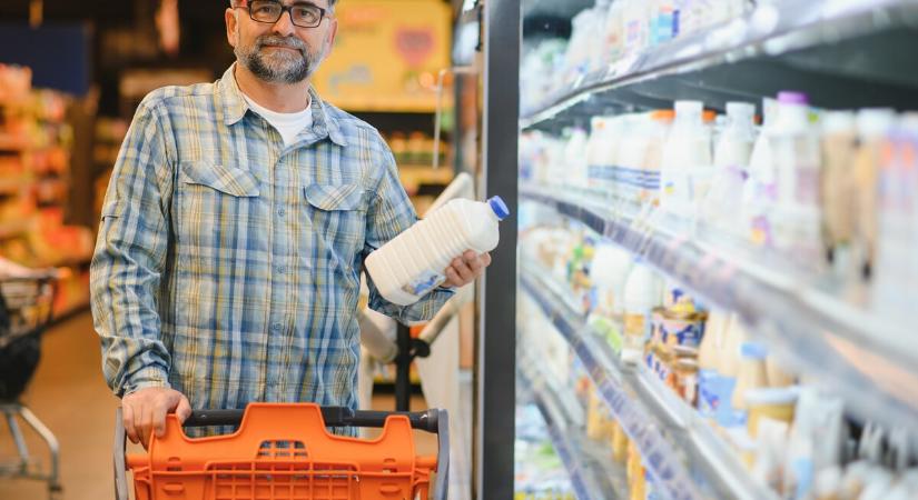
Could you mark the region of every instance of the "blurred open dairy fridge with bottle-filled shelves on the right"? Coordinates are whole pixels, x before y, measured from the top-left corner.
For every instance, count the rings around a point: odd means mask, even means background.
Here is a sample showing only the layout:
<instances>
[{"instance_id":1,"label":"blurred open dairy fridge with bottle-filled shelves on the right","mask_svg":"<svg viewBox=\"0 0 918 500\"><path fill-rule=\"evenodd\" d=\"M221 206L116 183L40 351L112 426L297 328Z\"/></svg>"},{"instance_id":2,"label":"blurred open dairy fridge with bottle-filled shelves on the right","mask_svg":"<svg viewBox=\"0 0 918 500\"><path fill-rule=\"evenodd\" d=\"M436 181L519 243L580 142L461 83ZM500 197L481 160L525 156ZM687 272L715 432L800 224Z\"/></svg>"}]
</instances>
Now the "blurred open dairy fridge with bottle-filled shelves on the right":
<instances>
[{"instance_id":1,"label":"blurred open dairy fridge with bottle-filled shelves on the right","mask_svg":"<svg viewBox=\"0 0 918 500\"><path fill-rule=\"evenodd\" d=\"M540 359L585 367L670 497L912 498L918 81L880 48L918 4L674 31L694 3L598 2L524 50L521 294L565 353Z\"/></svg>"}]
</instances>

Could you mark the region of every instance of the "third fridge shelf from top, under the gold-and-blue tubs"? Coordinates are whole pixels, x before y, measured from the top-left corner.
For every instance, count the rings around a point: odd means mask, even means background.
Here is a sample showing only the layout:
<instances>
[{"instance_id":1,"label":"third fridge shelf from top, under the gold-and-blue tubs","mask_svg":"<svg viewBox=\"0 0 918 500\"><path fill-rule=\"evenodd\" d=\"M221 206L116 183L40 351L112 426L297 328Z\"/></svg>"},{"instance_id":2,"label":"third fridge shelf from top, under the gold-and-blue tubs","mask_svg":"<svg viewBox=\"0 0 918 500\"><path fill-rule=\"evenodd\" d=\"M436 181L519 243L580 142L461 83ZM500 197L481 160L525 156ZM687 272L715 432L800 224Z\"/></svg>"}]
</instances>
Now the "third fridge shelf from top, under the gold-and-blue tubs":
<instances>
[{"instance_id":1,"label":"third fridge shelf from top, under the gold-and-blue tubs","mask_svg":"<svg viewBox=\"0 0 918 500\"><path fill-rule=\"evenodd\" d=\"M537 266L523 261L521 288L552 319L570 343L610 411L645 458L645 467L673 499L699 499L687 463L700 472L718 498L777 499L754 482L739 459L701 417L643 367L622 363L609 343L572 308ZM675 444L673 447L673 443ZM684 453L680 460L677 450Z\"/></svg>"}]
</instances>

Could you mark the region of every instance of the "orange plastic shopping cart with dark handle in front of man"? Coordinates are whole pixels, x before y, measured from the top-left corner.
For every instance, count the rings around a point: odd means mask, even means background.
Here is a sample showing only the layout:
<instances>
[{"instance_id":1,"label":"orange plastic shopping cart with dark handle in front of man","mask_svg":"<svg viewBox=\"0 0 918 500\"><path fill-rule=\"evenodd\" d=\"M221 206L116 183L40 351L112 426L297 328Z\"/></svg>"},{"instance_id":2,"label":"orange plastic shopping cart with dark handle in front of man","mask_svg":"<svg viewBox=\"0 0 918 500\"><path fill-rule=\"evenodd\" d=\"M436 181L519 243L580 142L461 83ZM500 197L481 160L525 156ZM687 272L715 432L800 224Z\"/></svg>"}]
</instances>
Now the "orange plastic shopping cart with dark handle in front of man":
<instances>
[{"instance_id":1,"label":"orange plastic shopping cart with dark handle in front of man","mask_svg":"<svg viewBox=\"0 0 918 500\"><path fill-rule=\"evenodd\" d=\"M184 426L239 426L231 434L190 439L175 414L148 451L125 456L117 410L115 498L128 500L426 500L446 499L450 422L443 410L352 411L313 403L250 403L245 410L198 410ZM327 427L376 427L375 440L334 436ZM437 434L437 456L415 456L412 429Z\"/></svg>"}]
</instances>

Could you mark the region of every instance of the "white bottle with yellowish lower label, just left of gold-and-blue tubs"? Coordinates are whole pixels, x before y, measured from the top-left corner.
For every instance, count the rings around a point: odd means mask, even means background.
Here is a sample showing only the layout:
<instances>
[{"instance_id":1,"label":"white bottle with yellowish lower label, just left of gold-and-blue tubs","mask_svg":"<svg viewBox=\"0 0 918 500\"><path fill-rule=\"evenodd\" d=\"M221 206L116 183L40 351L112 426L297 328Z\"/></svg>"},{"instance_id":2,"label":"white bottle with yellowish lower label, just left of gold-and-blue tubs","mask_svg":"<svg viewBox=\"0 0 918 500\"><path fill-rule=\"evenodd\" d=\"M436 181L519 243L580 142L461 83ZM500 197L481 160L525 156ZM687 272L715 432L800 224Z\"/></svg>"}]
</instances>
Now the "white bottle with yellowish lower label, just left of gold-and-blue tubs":
<instances>
[{"instance_id":1,"label":"white bottle with yellowish lower label, just left of gold-and-blue tubs","mask_svg":"<svg viewBox=\"0 0 918 500\"><path fill-rule=\"evenodd\" d=\"M622 360L633 363L641 361L650 333L650 313L660 306L662 288L657 273L643 266L640 259L635 259L624 286Z\"/></svg>"}]
</instances>

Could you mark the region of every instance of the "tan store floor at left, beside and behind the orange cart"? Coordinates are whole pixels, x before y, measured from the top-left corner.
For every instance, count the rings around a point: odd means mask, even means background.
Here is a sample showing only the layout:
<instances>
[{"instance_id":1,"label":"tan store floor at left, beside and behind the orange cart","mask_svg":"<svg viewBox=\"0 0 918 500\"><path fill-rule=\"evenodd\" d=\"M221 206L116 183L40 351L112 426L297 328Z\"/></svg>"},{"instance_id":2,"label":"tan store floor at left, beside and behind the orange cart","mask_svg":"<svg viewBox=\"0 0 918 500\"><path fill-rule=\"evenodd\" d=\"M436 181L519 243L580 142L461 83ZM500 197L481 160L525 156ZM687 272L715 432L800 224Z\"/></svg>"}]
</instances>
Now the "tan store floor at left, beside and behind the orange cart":
<instances>
[{"instance_id":1,"label":"tan store floor at left, beside and behind the orange cart","mask_svg":"<svg viewBox=\"0 0 918 500\"><path fill-rule=\"evenodd\" d=\"M101 374L99 340L89 312L57 323L42 340L42 356L26 404L55 433L60 442L60 478L63 494L59 500L102 500L112 498L111 444L118 399ZM376 410L394 409L392 394L373 399ZM412 410L426 408L424 398L412 399ZM24 426L23 426L23 429ZM47 470L47 447L27 430L30 452ZM436 453L436 439L416 433L419 453ZM139 449L139 447L138 447ZM0 463L16 457L6 422L0 423ZM43 500L43 482L0 478L0 499Z\"/></svg>"}]
</instances>

